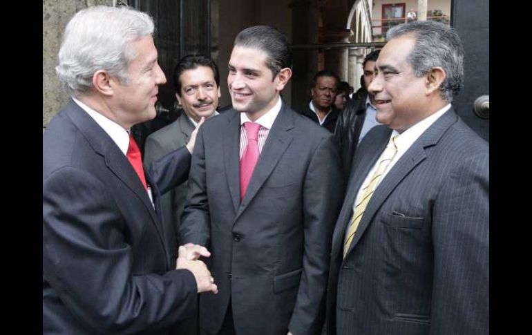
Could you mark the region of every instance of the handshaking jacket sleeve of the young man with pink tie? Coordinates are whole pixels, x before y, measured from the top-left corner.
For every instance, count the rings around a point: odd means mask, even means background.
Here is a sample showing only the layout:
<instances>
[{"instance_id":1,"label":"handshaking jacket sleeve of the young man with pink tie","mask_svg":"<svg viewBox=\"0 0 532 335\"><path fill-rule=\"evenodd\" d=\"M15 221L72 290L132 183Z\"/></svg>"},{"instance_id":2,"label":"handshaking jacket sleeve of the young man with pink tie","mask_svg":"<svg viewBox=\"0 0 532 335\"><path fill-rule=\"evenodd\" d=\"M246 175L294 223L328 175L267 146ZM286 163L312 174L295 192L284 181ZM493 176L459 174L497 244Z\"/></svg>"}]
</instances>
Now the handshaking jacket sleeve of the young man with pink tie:
<instances>
[{"instance_id":1,"label":"handshaking jacket sleeve of the young man with pink tie","mask_svg":"<svg viewBox=\"0 0 532 335\"><path fill-rule=\"evenodd\" d=\"M191 162L189 189L184 204L183 221L179 229L182 244L207 246L210 240L210 214L205 175L205 126L200 127Z\"/></svg>"}]
</instances>

